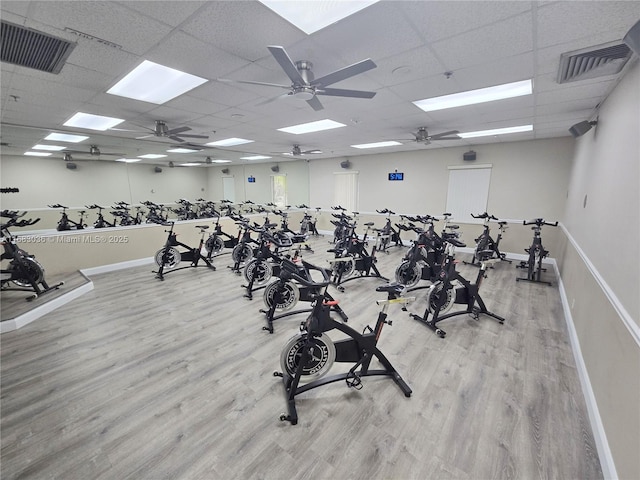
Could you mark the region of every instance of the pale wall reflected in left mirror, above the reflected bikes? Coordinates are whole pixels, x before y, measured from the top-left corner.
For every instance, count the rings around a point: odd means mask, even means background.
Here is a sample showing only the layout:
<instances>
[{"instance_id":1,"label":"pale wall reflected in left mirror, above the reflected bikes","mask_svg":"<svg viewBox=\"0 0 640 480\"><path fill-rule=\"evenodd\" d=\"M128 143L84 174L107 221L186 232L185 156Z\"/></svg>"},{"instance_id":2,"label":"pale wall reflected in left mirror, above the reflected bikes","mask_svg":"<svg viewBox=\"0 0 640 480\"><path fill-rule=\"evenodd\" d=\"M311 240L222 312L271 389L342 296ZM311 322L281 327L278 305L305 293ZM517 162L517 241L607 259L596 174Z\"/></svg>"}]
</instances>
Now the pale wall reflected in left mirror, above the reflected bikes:
<instances>
[{"instance_id":1,"label":"pale wall reflected in left mirror, above the reflected bikes","mask_svg":"<svg viewBox=\"0 0 640 480\"><path fill-rule=\"evenodd\" d=\"M121 221L118 205L148 210L145 203L174 208L184 199L219 204L223 199L241 204L278 201L280 205L309 203L309 169L306 161L228 166L170 167L166 164L124 163L113 160L75 160L0 157L2 187L17 193L2 194L2 209L27 210L40 218L38 230L55 229L64 210L69 219L93 226L102 207L109 222ZM251 180L250 180L251 179ZM232 197L232 198L230 198ZM60 207L50 207L60 205ZM62 207L67 207L66 210ZM84 211L82 220L80 212ZM112 212L116 212L113 215ZM36 228L34 226L34 228Z\"/></svg>"}]
</instances>

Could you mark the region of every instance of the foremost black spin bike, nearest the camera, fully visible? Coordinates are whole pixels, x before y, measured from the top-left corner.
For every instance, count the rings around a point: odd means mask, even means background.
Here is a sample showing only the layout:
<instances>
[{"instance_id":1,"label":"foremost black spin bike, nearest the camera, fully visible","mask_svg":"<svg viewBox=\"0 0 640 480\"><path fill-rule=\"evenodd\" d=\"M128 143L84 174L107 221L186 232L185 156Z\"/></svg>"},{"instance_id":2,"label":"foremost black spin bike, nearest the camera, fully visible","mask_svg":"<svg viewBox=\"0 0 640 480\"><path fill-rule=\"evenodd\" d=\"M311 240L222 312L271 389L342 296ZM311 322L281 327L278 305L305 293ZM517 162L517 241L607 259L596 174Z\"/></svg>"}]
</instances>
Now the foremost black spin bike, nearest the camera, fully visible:
<instances>
[{"instance_id":1,"label":"foremost black spin bike, nearest the camera, fully visible","mask_svg":"<svg viewBox=\"0 0 640 480\"><path fill-rule=\"evenodd\" d=\"M323 270L323 276L323 282L304 280L304 283L310 288L326 289L329 285L329 273ZM391 325L391 321L387 320L389 305L404 306L414 298L403 297L404 287L398 284L382 285L376 288L376 291L387 293L387 299L376 302L382 306L382 309L378 314L375 328L366 327L362 333L332 318L330 312L336 302L326 302L323 295L316 295L311 315L300 325L300 333L292 337L282 349L280 355L282 371L273 373L275 377L282 377L287 401L288 413L280 415L281 421L289 421L292 425L298 423L296 396L341 380L344 380L348 387L360 390L363 387L363 377L385 376L391 378L400 387L405 397L411 396L411 388L378 349L377 344L384 325ZM333 342L326 333L331 330L338 330L349 338ZM369 368L374 358L378 359L383 368L377 370ZM324 377L334 362L353 363L353 366L347 373ZM300 385L301 381L306 380L309 383Z\"/></svg>"}]
</instances>

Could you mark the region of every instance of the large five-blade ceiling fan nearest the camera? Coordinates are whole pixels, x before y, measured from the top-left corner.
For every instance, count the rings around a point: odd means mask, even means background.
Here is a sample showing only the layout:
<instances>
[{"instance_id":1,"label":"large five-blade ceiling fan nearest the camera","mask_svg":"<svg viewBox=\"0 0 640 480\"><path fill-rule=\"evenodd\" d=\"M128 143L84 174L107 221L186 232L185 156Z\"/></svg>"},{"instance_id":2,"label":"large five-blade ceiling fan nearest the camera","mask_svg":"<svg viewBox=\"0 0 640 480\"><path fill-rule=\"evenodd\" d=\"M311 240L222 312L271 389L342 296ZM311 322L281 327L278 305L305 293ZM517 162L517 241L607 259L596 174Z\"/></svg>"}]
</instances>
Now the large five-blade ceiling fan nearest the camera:
<instances>
[{"instance_id":1,"label":"large five-blade ceiling fan nearest the camera","mask_svg":"<svg viewBox=\"0 0 640 480\"><path fill-rule=\"evenodd\" d=\"M336 70L335 72L329 73L320 78L314 78L313 72L311 71L311 69L313 68L313 64L311 62L307 60L299 60L294 63L283 47L268 46L267 48L269 49L269 52L271 52L271 55L273 55L273 57L276 59L278 64L280 64L280 67L282 67L284 72L287 74L287 77L289 77L289 79L291 80L291 85L278 85L275 83L253 82L249 80L229 80L224 78L219 78L218 81L284 88L286 90L289 90L289 92L286 93L285 96L291 95L296 98L306 100L311 108L316 111L322 110L324 108L316 95L351 98L373 98L376 95L376 92L367 92L363 90L327 88L329 85L333 85L334 83L346 80L347 78L351 78L355 75L376 68L377 65L369 58L354 63L353 65L349 65L348 67L344 67L340 70ZM275 98L271 100L275 100ZM268 103L271 100L267 100L263 103Z\"/></svg>"}]
</instances>

